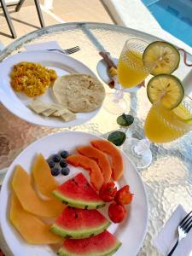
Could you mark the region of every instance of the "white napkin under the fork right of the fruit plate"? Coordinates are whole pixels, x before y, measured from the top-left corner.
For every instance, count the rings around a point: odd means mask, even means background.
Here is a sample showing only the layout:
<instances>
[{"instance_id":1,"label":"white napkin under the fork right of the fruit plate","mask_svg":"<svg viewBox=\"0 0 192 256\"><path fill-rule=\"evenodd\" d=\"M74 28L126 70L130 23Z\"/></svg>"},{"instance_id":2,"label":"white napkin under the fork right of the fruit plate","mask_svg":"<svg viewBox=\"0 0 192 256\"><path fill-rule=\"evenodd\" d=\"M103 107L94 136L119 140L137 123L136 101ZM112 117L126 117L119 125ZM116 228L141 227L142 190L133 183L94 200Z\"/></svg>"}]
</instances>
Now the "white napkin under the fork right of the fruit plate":
<instances>
[{"instance_id":1,"label":"white napkin under the fork right of the fruit plate","mask_svg":"<svg viewBox=\"0 0 192 256\"><path fill-rule=\"evenodd\" d=\"M182 219L187 215L181 205L178 205L176 210L172 213L171 218L168 219L160 234L154 240L154 246L158 248L160 253L167 255L172 247L175 245L178 237L177 226ZM192 229L188 235L181 240L172 256L189 256L192 255Z\"/></svg>"}]
</instances>

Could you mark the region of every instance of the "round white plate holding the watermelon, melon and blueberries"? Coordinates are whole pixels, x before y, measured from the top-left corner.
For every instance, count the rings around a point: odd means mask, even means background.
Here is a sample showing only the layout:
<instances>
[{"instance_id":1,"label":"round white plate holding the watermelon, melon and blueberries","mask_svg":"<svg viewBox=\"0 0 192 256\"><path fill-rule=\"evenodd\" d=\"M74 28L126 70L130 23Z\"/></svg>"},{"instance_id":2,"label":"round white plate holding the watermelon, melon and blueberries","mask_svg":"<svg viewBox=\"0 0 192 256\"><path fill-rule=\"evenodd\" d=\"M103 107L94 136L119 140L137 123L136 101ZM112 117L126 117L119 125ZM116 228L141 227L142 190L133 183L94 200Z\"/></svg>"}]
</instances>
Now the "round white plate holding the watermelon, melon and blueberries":
<instances>
[{"instance_id":1,"label":"round white plate holding the watermelon, melon and blueberries","mask_svg":"<svg viewBox=\"0 0 192 256\"><path fill-rule=\"evenodd\" d=\"M66 149L72 153L79 145L90 143L93 139L102 139L89 133L78 131L66 131L55 133L48 137L43 137L37 142L28 146L20 155L15 159L3 180L3 185L0 195L0 224L3 230L3 236L9 248L15 256L30 255L30 256L52 256L56 255L51 251L48 246L34 246L27 244L9 222L9 195L10 181L17 164L23 166L29 172L32 166L32 159L38 153L43 153L45 157L50 154L57 153L61 149ZM115 256L135 256L139 248L143 244L143 239L146 234L148 224L148 199L146 191L143 186L141 177L137 169L131 163L131 160L122 152L124 160L124 176L117 183L118 187L122 187L126 183L130 185L131 192L134 193L134 199L131 207L128 209L128 214L122 224L111 224L109 231L114 236L119 238L122 246ZM84 170L79 167L70 166L71 175L83 172ZM87 172L84 172L88 177ZM68 176L70 177L70 176ZM68 177L59 177L60 182L66 181ZM89 178L89 177L88 177ZM107 214L108 207L105 207L105 215ZM103 211L102 211L103 212Z\"/></svg>"}]
</instances>

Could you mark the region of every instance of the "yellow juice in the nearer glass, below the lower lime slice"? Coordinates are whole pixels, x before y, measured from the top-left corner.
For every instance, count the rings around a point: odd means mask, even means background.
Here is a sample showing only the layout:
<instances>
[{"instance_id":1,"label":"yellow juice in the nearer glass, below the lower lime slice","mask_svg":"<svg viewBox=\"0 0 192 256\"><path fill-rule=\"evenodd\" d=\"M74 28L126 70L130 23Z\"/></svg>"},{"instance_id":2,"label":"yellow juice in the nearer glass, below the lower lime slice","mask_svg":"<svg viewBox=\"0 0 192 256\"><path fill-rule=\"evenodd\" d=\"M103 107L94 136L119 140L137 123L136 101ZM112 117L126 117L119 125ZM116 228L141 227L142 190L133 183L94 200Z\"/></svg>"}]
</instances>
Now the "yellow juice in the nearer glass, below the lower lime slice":
<instances>
[{"instance_id":1,"label":"yellow juice in the nearer glass, below the lower lime slice","mask_svg":"<svg viewBox=\"0 0 192 256\"><path fill-rule=\"evenodd\" d=\"M183 105L179 108L189 113ZM160 105L152 106L144 125L145 135L153 143L169 143L182 137L190 129L191 125L183 122L174 110L166 110Z\"/></svg>"}]
</instances>

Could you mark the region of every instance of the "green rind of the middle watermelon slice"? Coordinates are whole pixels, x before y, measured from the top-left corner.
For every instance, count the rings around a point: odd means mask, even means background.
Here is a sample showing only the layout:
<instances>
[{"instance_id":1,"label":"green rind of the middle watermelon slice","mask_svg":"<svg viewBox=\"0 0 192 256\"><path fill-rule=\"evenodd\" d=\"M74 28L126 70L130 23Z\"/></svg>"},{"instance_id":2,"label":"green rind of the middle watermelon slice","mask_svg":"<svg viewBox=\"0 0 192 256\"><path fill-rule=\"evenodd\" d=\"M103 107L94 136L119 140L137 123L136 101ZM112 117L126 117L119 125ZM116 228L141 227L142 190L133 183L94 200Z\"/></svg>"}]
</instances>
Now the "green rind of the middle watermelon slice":
<instances>
[{"instance_id":1,"label":"green rind of the middle watermelon slice","mask_svg":"<svg viewBox=\"0 0 192 256\"><path fill-rule=\"evenodd\" d=\"M81 239L87 238L90 236L96 236L102 233L104 230L108 229L108 226L111 223L106 220L106 222L100 226L97 226L95 229L86 228L85 230L64 230L57 224L53 224L50 228L52 232L56 235L63 236L64 238L71 238L71 239Z\"/></svg>"}]
</instances>

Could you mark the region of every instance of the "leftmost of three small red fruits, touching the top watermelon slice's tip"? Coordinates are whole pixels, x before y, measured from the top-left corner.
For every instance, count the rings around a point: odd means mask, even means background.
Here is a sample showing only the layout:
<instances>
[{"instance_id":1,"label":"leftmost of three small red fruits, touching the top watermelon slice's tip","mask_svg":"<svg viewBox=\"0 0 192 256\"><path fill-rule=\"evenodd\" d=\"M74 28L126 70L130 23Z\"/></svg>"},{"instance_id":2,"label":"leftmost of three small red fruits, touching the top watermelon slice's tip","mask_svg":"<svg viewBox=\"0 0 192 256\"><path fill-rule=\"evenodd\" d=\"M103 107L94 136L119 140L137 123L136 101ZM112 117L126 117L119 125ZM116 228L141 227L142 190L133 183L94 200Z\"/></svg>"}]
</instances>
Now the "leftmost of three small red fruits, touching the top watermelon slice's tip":
<instances>
[{"instance_id":1,"label":"leftmost of three small red fruits, touching the top watermelon slice's tip","mask_svg":"<svg viewBox=\"0 0 192 256\"><path fill-rule=\"evenodd\" d=\"M99 191L99 196L103 201L113 201L114 196L117 193L117 188L115 183L105 183L102 185L102 188Z\"/></svg>"}]
</instances>

